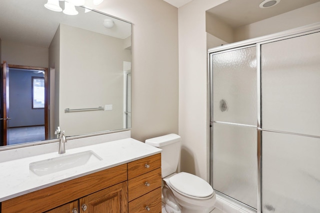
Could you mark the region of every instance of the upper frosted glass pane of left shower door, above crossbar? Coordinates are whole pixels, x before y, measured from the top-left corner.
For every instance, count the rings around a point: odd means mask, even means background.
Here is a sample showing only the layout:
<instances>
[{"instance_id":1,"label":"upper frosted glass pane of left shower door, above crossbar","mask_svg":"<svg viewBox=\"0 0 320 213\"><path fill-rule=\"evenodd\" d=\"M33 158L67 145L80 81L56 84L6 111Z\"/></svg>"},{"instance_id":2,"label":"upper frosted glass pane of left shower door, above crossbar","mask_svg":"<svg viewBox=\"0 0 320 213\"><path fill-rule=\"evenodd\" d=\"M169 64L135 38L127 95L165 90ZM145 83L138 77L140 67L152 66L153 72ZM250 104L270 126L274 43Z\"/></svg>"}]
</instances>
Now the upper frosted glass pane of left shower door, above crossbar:
<instances>
[{"instance_id":1,"label":"upper frosted glass pane of left shower door, above crossbar","mask_svg":"<svg viewBox=\"0 0 320 213\"><path fill-rule=\"evenodd\" d=\"M212 55L213 120L256 125L256 48Z\"/></svg>"}]
</instances>

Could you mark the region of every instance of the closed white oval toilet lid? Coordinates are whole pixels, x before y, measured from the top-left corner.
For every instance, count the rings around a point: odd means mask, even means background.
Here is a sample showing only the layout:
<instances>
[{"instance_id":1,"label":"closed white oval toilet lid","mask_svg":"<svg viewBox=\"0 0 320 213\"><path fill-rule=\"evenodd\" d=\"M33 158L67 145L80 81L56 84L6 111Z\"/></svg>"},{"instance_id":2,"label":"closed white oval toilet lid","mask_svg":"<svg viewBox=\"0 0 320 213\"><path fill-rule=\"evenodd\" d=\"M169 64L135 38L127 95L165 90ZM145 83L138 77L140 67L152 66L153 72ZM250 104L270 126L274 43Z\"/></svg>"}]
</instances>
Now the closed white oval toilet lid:
<instances>
[{"instance_id":1,"label":"closed white oval toilet lid","mask_svg":"<svg viewBox=\"0 0 320 213\"><path fill-rule=\"evenodd\" d=\"M185 195L204 198L212 195L212 187L203 179L185 172L169 178L170 186Z\"/></svg>"}]
</instances>

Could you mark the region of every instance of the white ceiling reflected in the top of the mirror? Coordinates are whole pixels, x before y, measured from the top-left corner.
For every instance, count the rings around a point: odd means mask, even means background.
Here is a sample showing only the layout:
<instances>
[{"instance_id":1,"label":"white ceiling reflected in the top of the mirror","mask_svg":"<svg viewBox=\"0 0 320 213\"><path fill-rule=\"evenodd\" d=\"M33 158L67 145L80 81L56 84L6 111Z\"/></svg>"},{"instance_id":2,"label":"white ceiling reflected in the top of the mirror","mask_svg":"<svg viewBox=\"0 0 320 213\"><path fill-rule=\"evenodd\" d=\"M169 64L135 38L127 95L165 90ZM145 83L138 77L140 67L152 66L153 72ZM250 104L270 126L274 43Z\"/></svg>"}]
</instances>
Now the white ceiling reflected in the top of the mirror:
<instances>
[{"instance_id":1,"label":"white ceiling reflected in the top of the mirror","mask_svg":"<svg viewBox=\"0 0 320 213\"><path fill-rule=\"evenodd\" d=\"M27 45L48 47L59 26L64 23L74 27L126 38L131 34L130 24L97 12L84 12L76 7L79 14L66 15L46 9L47 0L3 0L0 6L0 38L2 41L18 42ZM63 1L59 1L64 8ZM92 0L86 0L86 7L94 8ZM105 28L103 20L112 19L114 26Z\"/></svg>"}]
</instances>

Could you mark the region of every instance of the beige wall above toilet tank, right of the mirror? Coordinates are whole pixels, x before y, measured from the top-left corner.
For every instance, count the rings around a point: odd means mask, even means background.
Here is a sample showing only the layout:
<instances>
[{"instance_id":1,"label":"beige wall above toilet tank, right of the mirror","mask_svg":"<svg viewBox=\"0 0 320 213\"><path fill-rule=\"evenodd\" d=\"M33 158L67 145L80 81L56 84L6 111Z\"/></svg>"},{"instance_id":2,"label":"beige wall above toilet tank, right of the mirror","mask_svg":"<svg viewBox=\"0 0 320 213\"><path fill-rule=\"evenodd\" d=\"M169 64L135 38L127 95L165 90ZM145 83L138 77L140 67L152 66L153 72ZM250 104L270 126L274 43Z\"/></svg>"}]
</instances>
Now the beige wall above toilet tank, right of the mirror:
<instances>
[{"instance_id":1,"label":"beige wall above toilet tank, right of the mirror","mask_svg":"<svg viewBox=\"0 0 320 213\"><path fill-rule=\"evenodd\" d=\"M163 0L108 0L97 9L132 22L131 137L178 133L177 8Z\"/></svg>"}]
</instances>

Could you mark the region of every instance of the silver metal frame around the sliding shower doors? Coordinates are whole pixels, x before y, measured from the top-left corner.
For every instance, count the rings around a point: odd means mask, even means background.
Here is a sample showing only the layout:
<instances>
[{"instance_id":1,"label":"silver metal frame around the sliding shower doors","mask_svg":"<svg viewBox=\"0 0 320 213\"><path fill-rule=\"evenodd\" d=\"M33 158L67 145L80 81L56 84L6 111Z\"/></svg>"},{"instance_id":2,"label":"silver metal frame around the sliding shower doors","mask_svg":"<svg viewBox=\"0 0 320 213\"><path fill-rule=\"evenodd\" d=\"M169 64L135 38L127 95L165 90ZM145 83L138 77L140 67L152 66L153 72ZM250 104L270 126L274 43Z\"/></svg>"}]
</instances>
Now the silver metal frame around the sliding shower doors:
<instances>
[{"instance_id":1,"label":"silver metal frame around the sliding shower doors","mask_svg":"<svg viewBox=\"0 0 320 213\"><path fill-rule=\"evenodd\" d=\"M208 68L207 68L207 94L208 94L208 103L207 103L207 107L208 107L208 125L207 125L207 132L208 132L208 138L207 138L207 147L208 147L208 151L207 151L207 174L208 174L208 180L209 180L209 184L212 186L213 185L213 169L212 169L212 161L213 161L213 77L212 77L212 55L216 54L216 53L221 53L221 52L227 52L227 51L231 51L231 50L236 50L236 49L242 49L242 48L247 48L247 47L252 47L252 46L256 46L256 78L257 78L257 126L256 126L256 132L257 132L257 140L256 140L256 147L257 147L257 155L256 155L256 159L257 159L257 213L262 213L261 211L261 172L262 172L262 168L261 168L261 161L262 161L262 156L261 156L261 147L262 147L262 132L263 131L267 131L267 132L278 132L278 133L286 133L286 134L294 134L294 135L302 135L302 136L308 136L308 137L316 137L316 138L320 138L318 136L310 136L310 135L303 135L303 134L295 134L295 133L287 133L287 132L280 132L280 131L273 131L273 130L267 130L267 129L263 129L261 128L261 45L265 44L265 43L269 43L269 42L274 42L274 41L278 41L278 40L283 40L283 39L287 39L287 38L292 38L292 37L297 37L297 36L302 36L302 35L306 35L306 34L310 34L310 33L315 33L315 32L320 32L320 22L317 23L313 23L313 24L309 24L306 26L302 26L302 27L298 27L298 28L294 28L294 29L290 29L290 30L285 30L283 32L279 32L279 33L274 33L274 34L270 34L270 35L266 35L266 36L261 36L261 37L257 37L257 38L252 38L252 39L248 39L248 40L244 40L244 41L240 41L240 42L235 42L235 43L231 43L231 44L226 44L223 46L218 46L218 47L214 47L211 49L208 49ZM243 203L240 203L236 200L234 200L233 198L230 198L226 195L223 195L221 193L217 193L223 197L227 197L228 199L231 199L232 201L240 204L241 206L245 206L251 210L255 210Z\"/></svg>"}]
</instances>

